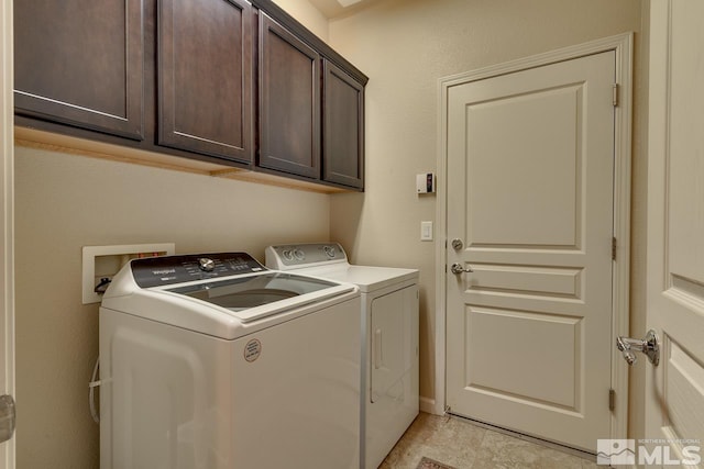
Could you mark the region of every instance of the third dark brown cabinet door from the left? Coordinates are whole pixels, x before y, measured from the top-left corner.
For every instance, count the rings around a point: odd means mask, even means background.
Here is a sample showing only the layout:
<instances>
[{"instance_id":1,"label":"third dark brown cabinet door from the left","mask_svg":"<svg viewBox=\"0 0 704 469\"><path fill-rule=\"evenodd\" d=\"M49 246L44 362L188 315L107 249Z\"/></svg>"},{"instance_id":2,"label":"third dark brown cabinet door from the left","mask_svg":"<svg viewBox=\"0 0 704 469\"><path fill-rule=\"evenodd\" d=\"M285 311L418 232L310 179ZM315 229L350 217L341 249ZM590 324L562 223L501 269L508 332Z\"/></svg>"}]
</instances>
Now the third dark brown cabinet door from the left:
<instances>
[{"instance_id":1,"label":"third dark brown cabinet door from the left","mask_svg":"<svg viewBox=\"0 0 704 469\"><path fill-rule=\"evenodd\" d=\"M320 178L320 58L260 13L258 166Z\"/></svg>"}]
</instances>

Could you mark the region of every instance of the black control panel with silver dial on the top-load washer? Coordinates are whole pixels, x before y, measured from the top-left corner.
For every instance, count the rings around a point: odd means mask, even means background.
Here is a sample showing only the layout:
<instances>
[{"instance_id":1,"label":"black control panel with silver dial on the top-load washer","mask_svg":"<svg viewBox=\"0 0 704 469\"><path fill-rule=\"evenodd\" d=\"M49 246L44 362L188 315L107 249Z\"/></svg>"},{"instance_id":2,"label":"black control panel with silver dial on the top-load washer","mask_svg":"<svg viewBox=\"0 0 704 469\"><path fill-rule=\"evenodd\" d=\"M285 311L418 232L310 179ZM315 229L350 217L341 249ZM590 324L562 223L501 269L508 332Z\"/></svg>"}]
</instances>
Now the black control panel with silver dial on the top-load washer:
<instances>
[{"instance_id":1,"label":"black control panel with silver dial on the top-load washer","mask_svg":"<svg viewBox=\"0 0 704 469\"><path fill-rule=\"evenodd\" d=\"M246 253L191 254L134 259L132 276L141 288L253 273L266 270Z\"/></svg>"}]
</instances>

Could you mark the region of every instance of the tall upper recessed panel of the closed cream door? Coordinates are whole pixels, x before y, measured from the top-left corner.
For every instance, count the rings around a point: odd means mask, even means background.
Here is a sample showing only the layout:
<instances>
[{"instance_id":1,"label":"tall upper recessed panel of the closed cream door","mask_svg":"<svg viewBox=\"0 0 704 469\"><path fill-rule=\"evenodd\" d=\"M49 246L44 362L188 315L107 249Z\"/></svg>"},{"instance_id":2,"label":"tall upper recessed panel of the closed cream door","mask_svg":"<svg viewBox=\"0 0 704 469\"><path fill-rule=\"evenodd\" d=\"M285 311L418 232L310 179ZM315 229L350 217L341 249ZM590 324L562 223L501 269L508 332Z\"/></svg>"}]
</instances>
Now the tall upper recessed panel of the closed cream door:
<instances>
[{"instance_id":1,"label":"tall upper recessed panel of the closed cream door","mask_svg":"<svg viewBox=\"0 0 704 469\"><path fill-rule=\"evenodd\" d=\"M579 248L583 174L582 148L574 143L583 126L578 112L582 92L582 86L569 86L468 105L466 233L472 246ZM542 212L542 223L534 223L536 212Z\"/></svg>"}]
</instances>

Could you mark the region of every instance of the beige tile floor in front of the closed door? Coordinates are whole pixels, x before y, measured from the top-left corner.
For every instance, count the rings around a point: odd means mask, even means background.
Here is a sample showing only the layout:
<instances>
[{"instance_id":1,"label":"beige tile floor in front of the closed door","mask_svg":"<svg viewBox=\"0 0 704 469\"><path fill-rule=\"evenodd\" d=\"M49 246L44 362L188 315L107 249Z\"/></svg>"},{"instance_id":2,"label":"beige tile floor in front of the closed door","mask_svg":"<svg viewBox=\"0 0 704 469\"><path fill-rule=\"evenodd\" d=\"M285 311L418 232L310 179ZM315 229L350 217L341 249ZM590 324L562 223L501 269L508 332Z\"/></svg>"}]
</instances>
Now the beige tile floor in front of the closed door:
<instances>
[{"instance_id":1,"label":"beige tile floor in front of the closed door","mask_svg":"<svg viewBox=\"0 0 704 469\"><path fill-rule=\"evenodd\" d=\"M585 459L453 416L421 412L380 469L416 469L426 456L457 469L597 469Z\"/></svg>"}]
</instances>

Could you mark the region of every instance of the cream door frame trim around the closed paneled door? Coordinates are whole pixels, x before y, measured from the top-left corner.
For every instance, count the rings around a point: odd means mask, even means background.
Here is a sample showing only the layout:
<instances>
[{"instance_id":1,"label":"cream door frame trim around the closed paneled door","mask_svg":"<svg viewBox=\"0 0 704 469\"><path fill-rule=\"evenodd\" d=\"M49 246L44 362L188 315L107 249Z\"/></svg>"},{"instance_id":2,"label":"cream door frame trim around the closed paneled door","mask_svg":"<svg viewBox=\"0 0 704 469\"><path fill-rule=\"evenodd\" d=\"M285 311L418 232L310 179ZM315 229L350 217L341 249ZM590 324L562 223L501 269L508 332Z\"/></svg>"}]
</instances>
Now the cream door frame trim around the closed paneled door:
<instances>
[{"instance_id":1,"label":"cream door frame trim around the closed paneled door","mask_svg":"<svg viewBox=\"0 0 704 469\"><path fill-rule=\"evenodd\" d=\"M631 174L631 121L632 121L632 44L634 33L624 33L534 55L477 70L443 77L438 80L438 158L436 205L436 360L435 400L427 400L422 410L441 415L446 412L447 367L447 170L448 170L448 97L449 89L468 82L483 80L520 70L570 60L586 55L614 51L616 53L616 82L618 105L615 107L615 166L614 166L614 237L617 239L614 261L612 294L612 343L617 336L628 336L630 294L630 174ZM626 438L628 431L628 368L612 349L612 389L615 391L615 409L612 412L610 435L604 438ZM604 397L606 405L607 397Z\"/></svg>"}]
</instances>

